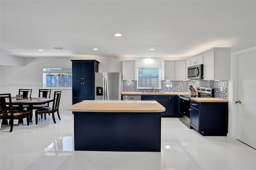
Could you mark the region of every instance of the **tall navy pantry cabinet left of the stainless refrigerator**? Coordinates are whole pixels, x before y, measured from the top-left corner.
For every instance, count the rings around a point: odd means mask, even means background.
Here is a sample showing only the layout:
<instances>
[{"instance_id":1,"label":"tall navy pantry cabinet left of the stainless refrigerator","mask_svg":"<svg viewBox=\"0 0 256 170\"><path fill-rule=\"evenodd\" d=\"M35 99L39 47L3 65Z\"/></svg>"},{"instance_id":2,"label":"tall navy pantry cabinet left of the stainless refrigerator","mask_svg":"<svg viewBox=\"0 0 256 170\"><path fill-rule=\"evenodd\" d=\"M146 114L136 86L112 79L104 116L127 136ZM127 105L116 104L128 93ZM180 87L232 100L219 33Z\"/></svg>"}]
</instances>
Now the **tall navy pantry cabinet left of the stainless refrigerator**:
<instances>
[{"instance_id":1,"label":"tall navy pantry cabinet left of the stainless refrigerator","mask_svg":"<svg viewBox=\"0 0 256 170\"><path fill-rule=\"evenodd\" d=\"M72 61L72 104L94 100L94 73L98 72L96 60Z\"/></svg>"}]
</instances>

